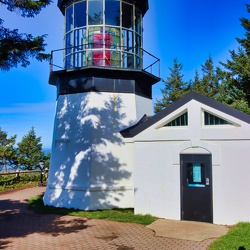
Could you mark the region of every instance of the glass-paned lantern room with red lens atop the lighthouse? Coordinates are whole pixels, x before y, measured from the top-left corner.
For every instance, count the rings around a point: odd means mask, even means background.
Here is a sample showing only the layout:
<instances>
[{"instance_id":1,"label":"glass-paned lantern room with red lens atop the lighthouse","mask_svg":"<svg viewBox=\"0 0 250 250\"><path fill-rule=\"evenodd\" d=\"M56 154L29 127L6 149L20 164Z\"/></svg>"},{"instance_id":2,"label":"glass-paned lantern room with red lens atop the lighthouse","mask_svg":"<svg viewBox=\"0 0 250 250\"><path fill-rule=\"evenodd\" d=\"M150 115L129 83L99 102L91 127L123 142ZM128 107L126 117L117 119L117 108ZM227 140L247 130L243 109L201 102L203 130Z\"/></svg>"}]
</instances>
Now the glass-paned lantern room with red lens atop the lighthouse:
<instances>
[{"instance_id":1,"label":"glass-paned lantern room with red lens atop the lighthouse","mask_svg":"<svg viewBox=\"0 0 250 250\"><path fill-rule=\"evenodd\" d=\"M65 69L142 69L142 17L148 1L58 2L65 16Z\"/></svg>"}]
</instances>

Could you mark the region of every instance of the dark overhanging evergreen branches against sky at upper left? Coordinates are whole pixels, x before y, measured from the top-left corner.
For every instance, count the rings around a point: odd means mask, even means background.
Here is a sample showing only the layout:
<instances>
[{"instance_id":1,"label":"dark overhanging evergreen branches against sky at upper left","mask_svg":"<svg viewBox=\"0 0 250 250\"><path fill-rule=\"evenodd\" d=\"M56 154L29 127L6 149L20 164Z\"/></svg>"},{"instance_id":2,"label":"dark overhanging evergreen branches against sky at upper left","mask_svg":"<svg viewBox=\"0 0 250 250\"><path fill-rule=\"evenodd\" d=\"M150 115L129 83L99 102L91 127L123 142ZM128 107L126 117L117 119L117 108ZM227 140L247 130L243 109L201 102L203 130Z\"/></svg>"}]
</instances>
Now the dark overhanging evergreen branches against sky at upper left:
<instances>
[{"instance_id":1,"label":"dark overhanging evergreen branches against sky at upper left","mask_svg":"<svg viewBox=\"0 0 250 250\"><path fill-rule=\"evenodd\" d=\"M23 17L34 17L50 2L51 0L0 0L0 4L7 10L20 13ZM17 29L5 28L3 23L4 20L0 18L0 70L8 71L19 64L26 67L30 64L29 58L48 60L50 55L44 53L45 35L33 37L31 34L19 33Z\"/></svg>"}]
</instances>

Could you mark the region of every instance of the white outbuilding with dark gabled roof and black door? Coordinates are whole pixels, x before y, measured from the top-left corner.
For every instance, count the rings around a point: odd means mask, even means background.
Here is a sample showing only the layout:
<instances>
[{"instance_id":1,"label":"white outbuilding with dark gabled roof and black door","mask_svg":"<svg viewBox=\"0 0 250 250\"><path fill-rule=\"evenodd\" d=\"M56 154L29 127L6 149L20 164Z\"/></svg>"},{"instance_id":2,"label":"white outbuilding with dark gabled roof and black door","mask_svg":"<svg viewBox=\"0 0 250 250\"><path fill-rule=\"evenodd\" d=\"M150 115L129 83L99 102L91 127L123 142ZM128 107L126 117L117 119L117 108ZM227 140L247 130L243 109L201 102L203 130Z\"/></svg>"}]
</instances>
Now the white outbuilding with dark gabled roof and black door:
<instances>
[{"instance_id":1,"label":"white outbuilding with dark gabled roof and black door","mask_svg":"<svg viewBox=\"0 0 250 250\"><path fill-rule=\"evenodd\" d=\"M134 158L135 213L250 221L250 116L191 92L121 132Z\"/></svg>"}]
</instances>

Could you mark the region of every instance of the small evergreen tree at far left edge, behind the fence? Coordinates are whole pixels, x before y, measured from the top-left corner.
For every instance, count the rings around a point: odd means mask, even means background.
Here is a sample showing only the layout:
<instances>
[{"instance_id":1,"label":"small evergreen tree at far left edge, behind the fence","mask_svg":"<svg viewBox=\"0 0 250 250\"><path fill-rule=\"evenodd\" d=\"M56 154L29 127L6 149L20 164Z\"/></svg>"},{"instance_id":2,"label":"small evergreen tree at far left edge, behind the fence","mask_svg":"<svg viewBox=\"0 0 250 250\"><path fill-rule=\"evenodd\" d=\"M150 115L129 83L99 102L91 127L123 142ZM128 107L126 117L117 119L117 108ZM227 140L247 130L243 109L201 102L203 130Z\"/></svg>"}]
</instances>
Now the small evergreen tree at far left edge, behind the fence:
<instances>
[{"instance_id":1,"label":"small evergreen tree at far left edge, behind the fence","mask_svg":"<svg viewBox=\"0 0 250 250\"><path fill-rule=\"evenodd\" d=\"M17 152L15 149L16 135L8 138L7 132L0 128L0 164L7 171L7 166L16 166Z\"/></svg>"}]
</instances>

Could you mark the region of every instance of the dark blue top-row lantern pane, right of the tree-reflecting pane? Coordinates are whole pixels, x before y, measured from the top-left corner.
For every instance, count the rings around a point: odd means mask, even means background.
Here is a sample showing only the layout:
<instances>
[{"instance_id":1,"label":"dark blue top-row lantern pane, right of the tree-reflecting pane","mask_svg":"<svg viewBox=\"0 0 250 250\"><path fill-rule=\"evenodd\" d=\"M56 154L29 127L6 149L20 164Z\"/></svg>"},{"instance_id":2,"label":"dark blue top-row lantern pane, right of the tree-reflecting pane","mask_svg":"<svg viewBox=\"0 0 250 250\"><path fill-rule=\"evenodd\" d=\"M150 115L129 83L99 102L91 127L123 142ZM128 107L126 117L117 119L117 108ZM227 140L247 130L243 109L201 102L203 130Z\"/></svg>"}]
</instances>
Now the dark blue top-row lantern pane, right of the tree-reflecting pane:
<instances>
[{"instance_id":1,"label":"dark blue top-row lantern pane, right of the tree-reflecting pane","mask_svg":"<svg viewBox=\"0 0 250 250\"><path fill-rule=\"evenodd\" d=\"M107 25L120 26L120 0L105 1L105 18Z\"/></svg>"}]
</instances>

